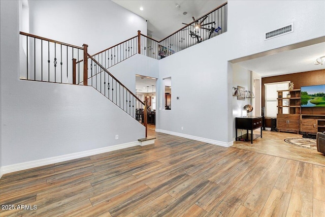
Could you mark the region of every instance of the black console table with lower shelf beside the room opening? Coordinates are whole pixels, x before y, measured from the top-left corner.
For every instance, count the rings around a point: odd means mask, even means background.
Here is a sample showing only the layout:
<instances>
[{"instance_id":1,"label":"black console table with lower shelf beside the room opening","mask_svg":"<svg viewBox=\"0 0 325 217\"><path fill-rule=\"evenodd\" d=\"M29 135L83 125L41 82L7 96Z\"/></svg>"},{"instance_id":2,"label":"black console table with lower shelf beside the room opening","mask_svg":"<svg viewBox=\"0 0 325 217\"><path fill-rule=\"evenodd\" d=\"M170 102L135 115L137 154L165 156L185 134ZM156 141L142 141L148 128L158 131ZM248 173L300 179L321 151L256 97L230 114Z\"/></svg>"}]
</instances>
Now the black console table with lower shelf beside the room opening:
<instances>
[{"instance_id":1,"label":"black console table with lower shelf beside the room opening","mask_svg":"<svg viewBox=\"0 0 325 217\"><path fill-rule=\"evenodd\" d=\"M261 135L253 134L253 130L261 128ZM237 136L237 130L247 130L247 133L241 136ZM251 134L248 131L251 131ZM251 141L260 137L262 138L262 116L248 116L248 117L236 117L236 141Z\"/></svg>"}]
</instances>

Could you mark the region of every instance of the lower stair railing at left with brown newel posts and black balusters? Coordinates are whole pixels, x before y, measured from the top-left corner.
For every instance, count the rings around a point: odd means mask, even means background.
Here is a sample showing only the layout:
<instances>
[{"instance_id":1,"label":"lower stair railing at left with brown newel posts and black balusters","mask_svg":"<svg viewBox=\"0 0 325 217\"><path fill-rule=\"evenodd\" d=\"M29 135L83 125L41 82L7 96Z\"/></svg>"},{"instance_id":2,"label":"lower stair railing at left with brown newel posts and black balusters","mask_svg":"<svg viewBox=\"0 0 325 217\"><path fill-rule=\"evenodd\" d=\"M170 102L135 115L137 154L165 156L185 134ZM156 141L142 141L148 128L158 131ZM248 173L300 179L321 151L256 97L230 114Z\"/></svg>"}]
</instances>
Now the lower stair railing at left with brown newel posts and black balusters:
<instances>
[{"instance_id":1,"label":"lower stair railing at left with brown newel posts and black balusters","mask_svg":"<svg viewBox=\"0 0 325 217\"><path fill-rule=\"evenodd\" d=\"M20 65L23 66L20 79L92 86L129 116L143 123L147 138L145 103L87 53L88 45L79 47L22 32L20 37L22 41L20 53L24 53L25 56L20 59ZM124 57L129 58L132 55L127 54ZM113 65L125 58L116 58ZM113 59L111 60L113 63ZM113 65L109 64L107 67ZM141 140L146 141L145 138Z\"/></svg>"}]
</instances>

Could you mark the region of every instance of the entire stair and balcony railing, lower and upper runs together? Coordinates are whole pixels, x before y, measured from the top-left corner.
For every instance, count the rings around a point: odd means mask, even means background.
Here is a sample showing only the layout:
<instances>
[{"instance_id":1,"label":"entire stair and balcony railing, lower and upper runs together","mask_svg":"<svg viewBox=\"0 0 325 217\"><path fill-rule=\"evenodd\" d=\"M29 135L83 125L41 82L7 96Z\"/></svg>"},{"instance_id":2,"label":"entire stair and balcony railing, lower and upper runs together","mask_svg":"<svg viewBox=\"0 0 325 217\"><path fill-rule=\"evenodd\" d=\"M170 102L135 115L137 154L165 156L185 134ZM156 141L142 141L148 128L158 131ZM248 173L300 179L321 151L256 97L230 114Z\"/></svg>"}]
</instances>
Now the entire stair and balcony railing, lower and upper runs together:
<instances>
[{"instance_id":1,"label":"entire stair and balcony railing, lower and upper runs together","mask_svg":"<svg viewBox=\"0 0 325 217\"><path fill-rule=\"evenodd\" d=\"M129 116L143 123L146 138L139 142L150 143L154 139L147 135L146 102L142 102L108 69L135 54L165 58L226 32L227 6L224 3L161 41L147 37L139 30L137 36L94 55L88 54L86 44L79 47L20 32L20 56L24 56L20 59L20 79L92 86ZM192 27L198 23L200 26L193 37Z\"/></svg>"}]
</instances>

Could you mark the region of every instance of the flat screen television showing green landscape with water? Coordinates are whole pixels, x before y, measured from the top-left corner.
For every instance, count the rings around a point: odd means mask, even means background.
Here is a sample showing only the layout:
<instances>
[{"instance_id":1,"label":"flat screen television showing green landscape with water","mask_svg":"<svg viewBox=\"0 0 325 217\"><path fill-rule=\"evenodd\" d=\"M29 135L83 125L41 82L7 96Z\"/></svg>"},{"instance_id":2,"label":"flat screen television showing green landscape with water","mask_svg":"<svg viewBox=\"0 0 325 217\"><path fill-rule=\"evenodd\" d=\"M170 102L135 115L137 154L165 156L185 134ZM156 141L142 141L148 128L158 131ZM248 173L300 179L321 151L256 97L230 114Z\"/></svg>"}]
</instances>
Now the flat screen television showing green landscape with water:
<instances>
[{"instance_id":1,"label":"flat screen television showing green landscape with water","mask_svg":"<svg viewBox=\"0 0 325 217\"><path fill-rule=\"evenodd\" d=\"M325 108L325 84L302 86L301 107Z\"/></svg>"}]
</instances>

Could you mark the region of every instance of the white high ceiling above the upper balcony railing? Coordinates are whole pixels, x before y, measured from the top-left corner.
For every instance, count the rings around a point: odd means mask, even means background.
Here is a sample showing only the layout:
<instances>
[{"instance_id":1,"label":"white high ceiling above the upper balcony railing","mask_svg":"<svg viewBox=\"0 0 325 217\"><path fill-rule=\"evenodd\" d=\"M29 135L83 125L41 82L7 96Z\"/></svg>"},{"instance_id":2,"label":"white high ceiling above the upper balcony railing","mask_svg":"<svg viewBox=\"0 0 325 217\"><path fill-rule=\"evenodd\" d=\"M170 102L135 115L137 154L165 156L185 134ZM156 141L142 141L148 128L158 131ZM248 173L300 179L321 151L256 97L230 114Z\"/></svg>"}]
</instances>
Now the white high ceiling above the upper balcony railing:
<instances>
[{"instance_id":1,"label":"white high ceiling above the upper balcony railing","mask_svg":"<svg viewBox=\"0 0 325 217\"><path fill-rule=\"evenodd\" d=\"M112 0L147 20L147 35L156 40L170 36L184 27L182 23L198 19L226 1L218 0ZM179 7L176 7L179 5ZM143 11L140 11L140 7ZM183 15L183 12L187 12Z\"/></svg>"}]
</instances>

